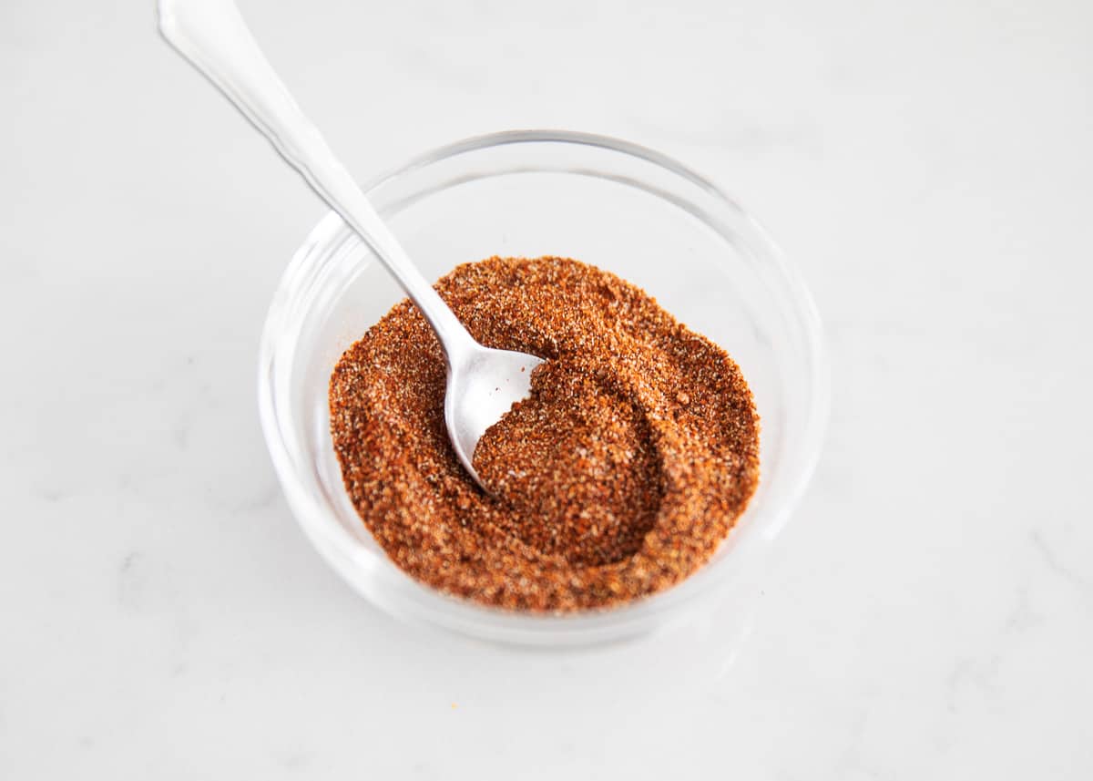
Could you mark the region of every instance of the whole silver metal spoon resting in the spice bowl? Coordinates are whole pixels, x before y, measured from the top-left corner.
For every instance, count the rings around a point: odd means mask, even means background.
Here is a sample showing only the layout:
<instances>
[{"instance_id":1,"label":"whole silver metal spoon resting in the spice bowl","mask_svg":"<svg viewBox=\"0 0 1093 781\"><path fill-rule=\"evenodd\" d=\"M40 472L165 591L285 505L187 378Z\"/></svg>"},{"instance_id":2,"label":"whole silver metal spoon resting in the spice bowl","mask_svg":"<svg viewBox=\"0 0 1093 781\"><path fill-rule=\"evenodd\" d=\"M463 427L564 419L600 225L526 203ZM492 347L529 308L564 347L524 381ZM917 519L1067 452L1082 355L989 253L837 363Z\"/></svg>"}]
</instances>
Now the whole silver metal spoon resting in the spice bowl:
<instances>
[{"instance_id":1,"label":"whole silver metal spoon resting in the spice bowl","mask_svg":"<svg viewBox=\"0 0 1093 781\"><path fill-rule=\"evenodd\" d=\"M477 342L413 265L364 193L304 116L232 0L160 0L160 32L272 142L399 281L436 331L448 364L444 419L460 463L485 430L525 398L542 359Z\"/></svg>"}]
</instances>

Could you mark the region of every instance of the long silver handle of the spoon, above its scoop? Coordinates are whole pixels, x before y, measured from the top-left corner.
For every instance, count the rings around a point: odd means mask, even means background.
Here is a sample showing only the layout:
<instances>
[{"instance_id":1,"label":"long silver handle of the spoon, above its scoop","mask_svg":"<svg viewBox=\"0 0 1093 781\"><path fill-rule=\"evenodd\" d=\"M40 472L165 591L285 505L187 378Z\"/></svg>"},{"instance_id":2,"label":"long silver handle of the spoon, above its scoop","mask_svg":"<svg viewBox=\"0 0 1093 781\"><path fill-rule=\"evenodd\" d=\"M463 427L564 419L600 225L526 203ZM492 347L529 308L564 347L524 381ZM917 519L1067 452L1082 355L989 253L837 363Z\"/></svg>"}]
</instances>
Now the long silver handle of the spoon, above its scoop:
<instances>
[{"instance_id":1,"label":"long silver handle of the spoon, above its scoop","mask_svg":"<svg viewBox=\"0 0 1093 781\"><path fill-rule=\"evenodd\" d=\"M227 96L384 261L450 359L473 341L296 105L232 0L160 0L160 32Z\"/></svg>"}]
</instances>

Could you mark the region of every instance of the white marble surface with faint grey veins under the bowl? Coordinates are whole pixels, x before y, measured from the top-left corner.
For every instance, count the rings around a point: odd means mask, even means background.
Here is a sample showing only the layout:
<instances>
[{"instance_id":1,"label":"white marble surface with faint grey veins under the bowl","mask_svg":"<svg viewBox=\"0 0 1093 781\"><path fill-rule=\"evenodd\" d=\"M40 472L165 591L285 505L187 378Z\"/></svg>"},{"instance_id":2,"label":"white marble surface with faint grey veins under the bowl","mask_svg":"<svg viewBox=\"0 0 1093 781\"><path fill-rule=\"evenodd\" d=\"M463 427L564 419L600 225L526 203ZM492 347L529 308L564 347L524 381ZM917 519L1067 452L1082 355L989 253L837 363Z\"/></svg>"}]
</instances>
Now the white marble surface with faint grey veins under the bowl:
<instances>
[{"instance_id":1,"label":"white marble surface with faint grey veins under the bowl","mask_svg":"<svg viewBox=\"0 0 1093 781\"><path fill-rule=\"evenodd\" d=\"M244 3L362 175L622 136L815 292L830 440L750 639L566 655L306 545L254 374L322 209L150 5L0 5L0 778L1093 777L1089 2Z\"/></svg>"}]
</instances>

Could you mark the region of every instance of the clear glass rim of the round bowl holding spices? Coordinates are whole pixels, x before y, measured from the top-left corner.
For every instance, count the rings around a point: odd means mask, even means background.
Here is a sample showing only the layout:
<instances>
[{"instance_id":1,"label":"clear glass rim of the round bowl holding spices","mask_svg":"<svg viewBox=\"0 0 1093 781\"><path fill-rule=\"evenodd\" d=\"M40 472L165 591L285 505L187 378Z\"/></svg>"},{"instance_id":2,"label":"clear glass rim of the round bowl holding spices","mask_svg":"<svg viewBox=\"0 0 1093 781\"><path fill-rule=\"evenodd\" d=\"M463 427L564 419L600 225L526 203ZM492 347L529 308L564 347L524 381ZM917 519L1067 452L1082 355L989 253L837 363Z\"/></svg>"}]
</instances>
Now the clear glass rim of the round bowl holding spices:
<instances>
[{"instance_id":1,"label":"clear glass rim of the round bowl holding spices","mask_svg":"<svg viewBox=\"0 0 1093 781\"><path fill-rule=\"evenodd\" d=\"M799 459L796 474L790 474L783 489L784 499L775 511L766 534L738 535L734 540L733 555L729 559L737 561L743 558L755 558L755 546L768 544L785 525L785 521L797 508L808 483L815 470L826 431L830 410L830 368L823 337L823 326L815 303L795 266L783 255L778 246L771 240L766 231L752 218L733 198L715 185L710 179L680 163L673 158L647 147L609 136L552 129L505 130L484 133L448 143L416 156L402 165L395 166L374 177L362 186L365 194L372 194L392 179L407 176L423 167L434 165L445 160L493 147L504 147L521 143L561 143L592 147L610 152L630 155L644 160L655 166L680 176L691 184L713 196L720 206L734 212L757 240L764 249L764 263L773 264L787 291L790 293L796 315L801 319L804 347L812 364L810 376L810 404L806 417L806 427L801 435L800 448L804 451ZM293 511L297 523L305 535L316 547L321 557L343 579L350 582L355 591L361 591L346 569L361 566L374 567L383 559L383 564L390 567L406 579L408 584L416 586L424 598L423 604L434 602L432 607L416 614L407 614L392 609L390 605L377 598L377 594L368 594L372 602L388 613L398 614L399 618L418 623L440 626L459 633L470 634L503 642L542 643L544 639L560 641L560 644L583 644L612 639L626 633L637 633L651 621L662 618L666 613L673 611L681 604L690 604L700 595L709 594L717 586L724 585L740 568L704 566L679 584L658 594L644 597L634 603L602 610L583 610L563 615L527 614L479 605L468 599L448 596L428 586L418 583L409 574L398 570L381 553L360 547L360 541L353 539L348 531L332 516L330 511L308 491L305 476L296 468L293 456L279 421L277 404L274 363L279 357L279 336L283 333L282 323L290 316L295 280L304 273L307 263L318 247L329 246L336 235L344 229L341 218L333 211L328 212L318 224L312 229L307 237L293 254L284 269L270 303L262 328L258 360L258 406L262 432L266 439L270 458L281 482L282 490ZM316 518L326 516L331 523L320 525ZM346 546L354 546L350 552ZM741 552L738 549L744 549ZM362 560L363 557L363 560ZM439 602L436 602L439 599ZM465 615L445 615L446 611ZM604 627L607 622L609 626ZM633 629L627 632L626 629Z\"/></svg>"}]
</instances>

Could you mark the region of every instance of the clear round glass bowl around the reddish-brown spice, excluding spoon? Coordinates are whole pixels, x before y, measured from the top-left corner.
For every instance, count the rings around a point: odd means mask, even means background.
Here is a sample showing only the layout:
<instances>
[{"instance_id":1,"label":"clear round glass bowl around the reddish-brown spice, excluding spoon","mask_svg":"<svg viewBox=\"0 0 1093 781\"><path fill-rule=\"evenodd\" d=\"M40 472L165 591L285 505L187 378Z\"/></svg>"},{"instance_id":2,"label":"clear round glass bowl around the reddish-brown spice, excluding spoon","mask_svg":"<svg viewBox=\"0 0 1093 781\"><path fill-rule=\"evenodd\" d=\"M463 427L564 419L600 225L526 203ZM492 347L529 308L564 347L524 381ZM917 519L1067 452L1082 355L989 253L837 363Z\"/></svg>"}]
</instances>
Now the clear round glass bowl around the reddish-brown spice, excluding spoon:
<instances>
[{"instance_id":1,"label":"clear round glass bowl around the reddish-brown spice, excluding spoon","mask_svg":"<svg viewBox=\"0 0 1093 781\"><path fill-rule=\"evenodd\" d=\"M713 184L662 154L562 131L513 131L425 154L366 188L435 279L492 255L574 257L655 295L736 359L762 417L760 488L715 557L661 594L609 610L509 613L419 584L386 557L342 488L327 388L342 351L403 298L334 214L297 250L261 341L262 428L285 497L319 553L408 620L502 642L599 643L756 591L764 553L815 464L827 412L820 320L801 278ZM733 590L737 590L733 592Z\"/></svg>"}]
</instances>

